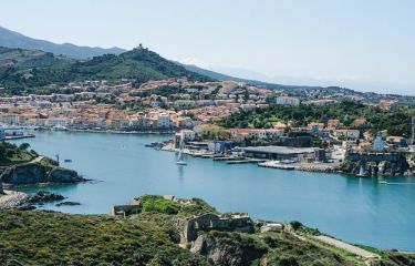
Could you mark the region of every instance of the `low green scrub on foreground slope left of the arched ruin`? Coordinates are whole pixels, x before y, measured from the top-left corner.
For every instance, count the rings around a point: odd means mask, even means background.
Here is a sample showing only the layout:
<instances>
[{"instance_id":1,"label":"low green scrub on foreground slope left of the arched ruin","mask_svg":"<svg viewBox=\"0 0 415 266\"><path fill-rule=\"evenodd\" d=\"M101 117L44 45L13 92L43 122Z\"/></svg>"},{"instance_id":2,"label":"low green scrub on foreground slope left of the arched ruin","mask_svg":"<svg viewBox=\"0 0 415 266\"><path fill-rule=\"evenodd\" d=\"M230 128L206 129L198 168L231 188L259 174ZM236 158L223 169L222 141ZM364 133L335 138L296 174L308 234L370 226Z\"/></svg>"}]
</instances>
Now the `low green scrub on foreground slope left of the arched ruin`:
<instances>
[{"instance_id":1,"label":"low green scrub on foreground slope left of the arched ruin","mask_svg":"<svg viewBox=\"0 0 415 266\"><path fill-rule=\"evenodd\" d=\"M207 265L174 244L165 228L135 219L50 212L4 211L4 265Z\"/></svg>"}]
</instances>

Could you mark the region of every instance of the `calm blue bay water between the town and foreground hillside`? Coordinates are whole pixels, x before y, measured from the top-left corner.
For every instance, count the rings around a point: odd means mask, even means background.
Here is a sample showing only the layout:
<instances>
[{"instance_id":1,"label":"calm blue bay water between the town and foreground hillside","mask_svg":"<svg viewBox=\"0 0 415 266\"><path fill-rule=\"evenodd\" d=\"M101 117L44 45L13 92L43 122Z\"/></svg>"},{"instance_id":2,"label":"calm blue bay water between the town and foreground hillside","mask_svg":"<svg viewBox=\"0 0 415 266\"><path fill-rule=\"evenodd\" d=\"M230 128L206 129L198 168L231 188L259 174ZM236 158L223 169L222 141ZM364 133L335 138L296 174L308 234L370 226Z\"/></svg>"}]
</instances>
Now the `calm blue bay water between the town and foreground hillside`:
<instances>
[{"instance_id":1,"label":"calm blue bay water between the town and foreground hillside","mask_svg":"<svg viewBox=\"0 0 415 266\"><path fill-rule=\"evenodd\" d=\"M81 206L44 208L68 213L107 213L142 194L201 197L220 212L248 212L257 218L298 219L345 239L382 248L415 250L415 178L375 178L228 165L188 157L175 164L174 153L144 144L168 135L44 132L29 142L96 182L48 187ZM37 188L24 188L32 192Z\"/></svg>"}]
</instances>

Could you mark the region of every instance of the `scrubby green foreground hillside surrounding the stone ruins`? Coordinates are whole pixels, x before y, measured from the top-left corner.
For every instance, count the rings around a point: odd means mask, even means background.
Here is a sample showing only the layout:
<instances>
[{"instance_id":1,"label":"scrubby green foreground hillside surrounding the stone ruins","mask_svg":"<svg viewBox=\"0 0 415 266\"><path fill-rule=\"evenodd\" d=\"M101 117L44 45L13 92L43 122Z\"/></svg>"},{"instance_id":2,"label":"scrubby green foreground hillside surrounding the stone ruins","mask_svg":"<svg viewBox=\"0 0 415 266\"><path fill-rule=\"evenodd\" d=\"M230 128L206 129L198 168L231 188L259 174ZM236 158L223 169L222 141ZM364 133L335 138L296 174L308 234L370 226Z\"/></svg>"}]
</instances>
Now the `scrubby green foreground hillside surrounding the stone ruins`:
<instances>
[{"instance_id":1,"label":"scrubby green foreground hillside surrounding the stone ruins","mask_svg":"<svg viewBox=\"0 0 415 266\"><path fill-rule=\"evenodd\" d=\"M199 232L179 246L178 221L216 211L204 201L177 203L162 196L139 198L142 211L127 218L46 211L3 211L0 262L4 265L366 265L344 250L319 243L300 223L282 232ZM299 237L301 235L301 237ZM24 237L22 237L24 236ZM200 239L205 244L199 246ZM367 248L367 247L366 247ZM370 248L382 256L372 265L415 265L414 257Z\"/></svg>"}]
</instances>

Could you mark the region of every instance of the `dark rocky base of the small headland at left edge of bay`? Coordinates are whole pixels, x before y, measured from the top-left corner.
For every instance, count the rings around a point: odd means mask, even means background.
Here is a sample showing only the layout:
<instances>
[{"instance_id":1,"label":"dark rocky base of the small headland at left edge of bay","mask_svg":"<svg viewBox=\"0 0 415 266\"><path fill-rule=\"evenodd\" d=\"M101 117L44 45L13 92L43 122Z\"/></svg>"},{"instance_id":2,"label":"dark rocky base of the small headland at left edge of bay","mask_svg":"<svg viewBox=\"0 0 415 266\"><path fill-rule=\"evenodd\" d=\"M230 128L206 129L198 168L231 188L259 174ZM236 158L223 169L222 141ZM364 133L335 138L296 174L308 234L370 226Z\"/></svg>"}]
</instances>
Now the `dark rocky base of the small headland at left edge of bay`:
<instances>
[{"instance_id":1,"label":"dark rocky base of the small headland at left edge of bay","mask_svg":"<svg viewBox=\"0 0 415 266\"><path fill-rule=\"evenodd\" d=\"M11 185L28 185L39 183L68 184L84 181L73 170L62 168L41 162L18 164L8 167L1 175L0 182Z\"/></svg>"}]
</instances>

